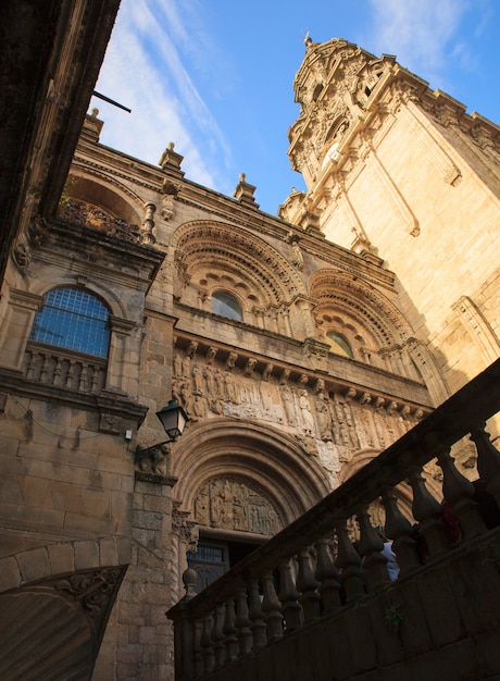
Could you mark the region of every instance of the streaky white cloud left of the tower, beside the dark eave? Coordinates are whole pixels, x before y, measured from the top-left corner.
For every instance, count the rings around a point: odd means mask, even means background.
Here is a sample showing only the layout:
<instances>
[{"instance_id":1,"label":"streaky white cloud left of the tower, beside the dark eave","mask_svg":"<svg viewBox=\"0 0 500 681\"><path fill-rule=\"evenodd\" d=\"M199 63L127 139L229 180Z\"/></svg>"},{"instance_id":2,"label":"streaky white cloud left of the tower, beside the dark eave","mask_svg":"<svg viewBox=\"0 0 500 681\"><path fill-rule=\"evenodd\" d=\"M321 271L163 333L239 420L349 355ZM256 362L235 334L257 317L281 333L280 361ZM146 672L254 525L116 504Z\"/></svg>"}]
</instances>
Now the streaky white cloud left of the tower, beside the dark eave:
<instances>
[{"instance_id":1,"label":"streaky white cloud left of the tower, beside the dark eave","mask_svg":"<svg viewBox=\"0 0 500 681\"><path fill-rule=\"evenodd\" d=\"M196 3L186 16L178 8L172 0L123 0L97 89L133 113L96 101L105 121L101 141L151 163L174 141L189 178L218 188L230 151L189 75L193 50L203 49L201 25L198 47L190 40Z\"/></svg>"}]
</instances>

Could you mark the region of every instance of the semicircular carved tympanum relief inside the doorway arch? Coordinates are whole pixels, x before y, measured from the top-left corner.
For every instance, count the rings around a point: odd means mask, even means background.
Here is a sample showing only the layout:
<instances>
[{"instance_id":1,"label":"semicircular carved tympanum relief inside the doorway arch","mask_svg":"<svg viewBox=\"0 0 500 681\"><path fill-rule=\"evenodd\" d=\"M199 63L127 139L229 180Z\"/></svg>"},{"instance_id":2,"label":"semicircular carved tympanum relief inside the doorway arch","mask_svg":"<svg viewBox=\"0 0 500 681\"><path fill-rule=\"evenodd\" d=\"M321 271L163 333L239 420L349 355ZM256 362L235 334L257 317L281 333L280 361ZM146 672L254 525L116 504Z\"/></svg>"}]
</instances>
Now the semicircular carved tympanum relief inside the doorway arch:
<instances>
[{"instance_id":1,"label":"semicircular carved tympanum relief inside the doorway arch","mask_svg":"<svg viewBox=\"0 0 500 681\"><path fill-rule=\"evenodd\" d=\"M213 479L199 490L193 517L201 525L255 534L276 534L284 527L275 506L260 492L226 478Z\"/></svg>"}]
</instances>

